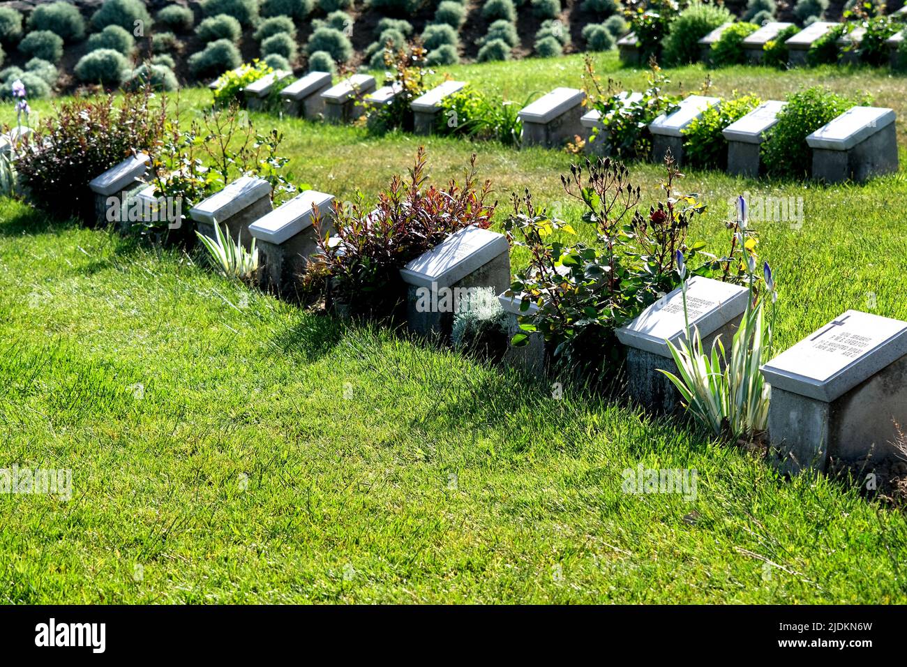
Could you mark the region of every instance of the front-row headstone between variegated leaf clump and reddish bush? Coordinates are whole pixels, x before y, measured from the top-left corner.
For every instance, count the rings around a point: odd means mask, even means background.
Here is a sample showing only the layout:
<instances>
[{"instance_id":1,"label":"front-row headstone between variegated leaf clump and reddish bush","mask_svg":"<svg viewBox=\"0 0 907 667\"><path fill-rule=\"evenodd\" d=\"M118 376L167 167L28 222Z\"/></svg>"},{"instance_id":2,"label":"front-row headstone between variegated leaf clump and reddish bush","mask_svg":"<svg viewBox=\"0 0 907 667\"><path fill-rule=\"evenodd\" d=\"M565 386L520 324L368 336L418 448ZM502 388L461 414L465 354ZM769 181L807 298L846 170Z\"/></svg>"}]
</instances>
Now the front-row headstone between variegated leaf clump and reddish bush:
<instances>
[{"instance_id":1,"label":"front-row headstone between variegated leaf clump and reddish bush","mask_svg":"<svg viewBox=\"0 0 907 667\"><path fill-rule=\"evenodd\" d=\"M312 222L320 218L322 233L333 230L334 196L307 190L249 225L258 247L258 277L261 287L278 294L291 294L297 276L317 250L317 230Z\"/></svg>"}]
</instances>

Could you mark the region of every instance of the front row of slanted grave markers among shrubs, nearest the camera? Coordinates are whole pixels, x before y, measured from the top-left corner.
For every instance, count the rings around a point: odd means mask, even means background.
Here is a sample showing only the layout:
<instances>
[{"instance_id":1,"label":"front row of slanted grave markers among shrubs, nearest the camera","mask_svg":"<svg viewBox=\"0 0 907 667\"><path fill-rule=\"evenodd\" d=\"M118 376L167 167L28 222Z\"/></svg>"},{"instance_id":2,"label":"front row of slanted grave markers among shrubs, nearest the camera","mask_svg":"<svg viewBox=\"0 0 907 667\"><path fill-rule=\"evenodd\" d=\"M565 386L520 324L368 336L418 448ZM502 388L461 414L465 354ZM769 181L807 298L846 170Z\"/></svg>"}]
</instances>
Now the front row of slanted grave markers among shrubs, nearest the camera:
<instances>
[{"instance_id":1,"label":"front row of slanted grave markers among shrubs, nearest the camera","mask_svg":"<svg viewBox=\"0 0 907 667\"><path fill-rule=\"evenodd\" d=\"M111 197L125 201L141 192L153 195L145 182L150 160L139 154L102 173L89 183L99 211ZM151 194L149 194L151 191ZM312 222L316 211L333 231L334 197L304 191L272 210L268 181L244 176L200 201L190 210L197 229L209 236L214 225L225 225L233 238L259 248L259 284L281 294L292 293L295 281L317 250ZM326 229L322 229L324 233ZM506 238L495 231L469 227L410 261L400 270L407 286L407 321L424 336L447 338L456 298L470 289L492 289L508 313L512 333L519 317L537 306L509 288L510 252ZM446 305L439 306L447 295ZM425 294L431 297L427 301ZM686 337L681 289L675 289L618 329L627 348L629 395L655 412L678 407L679 395L659 369L677 373L668 350ZM746 310L748 290L719 280L688 281L688 316L706 348L721 337L728 347ZM421 301L421 307L420 307ZM425 307L425 304L431 304ZM525 347L509 347L505 362L524 370L545 372L545 341L530 335ZM793 348L768 361L762 372L772 386L769 441L790 472L823 469L828 458L881 462L897 456L893 443L898 424L907 425L907 322L847 310Z\"/></svg>"}]
</instances>

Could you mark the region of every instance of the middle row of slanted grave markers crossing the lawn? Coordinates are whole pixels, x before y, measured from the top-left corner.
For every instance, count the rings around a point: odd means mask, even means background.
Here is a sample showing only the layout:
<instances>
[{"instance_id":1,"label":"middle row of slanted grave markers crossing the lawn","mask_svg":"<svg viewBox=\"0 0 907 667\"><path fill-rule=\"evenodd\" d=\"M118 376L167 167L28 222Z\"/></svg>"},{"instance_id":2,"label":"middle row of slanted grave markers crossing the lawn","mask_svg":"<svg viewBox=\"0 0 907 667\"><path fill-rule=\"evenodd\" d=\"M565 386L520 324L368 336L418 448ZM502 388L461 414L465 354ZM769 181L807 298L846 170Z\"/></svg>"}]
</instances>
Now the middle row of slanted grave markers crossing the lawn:
<instances>
[{"instance_id":1,"label":"middle row of slanted grave markers crossing the lawn","mask_svg":"<svg viewBox=\"0 0 907 667\"><path fill-rule=\"evenodd\" d=\"M245 88L249 107L256 108L268 97L275 83L290 75L288 72L275 72L249 84ZM415 99L411 103L414 131L419 134L434 132L444 99L463 90L465 85L461 81L444 81ZM366 104L391 103L398 93L399 88L391 85L375 89L375 77L370 74L353 74L333 84L330 74L312 72L290 83L280 92L280 96L287 104L289 113L310 119L323 117L329 123L350 123L366 113ZM622 94L628 104L641 99L640 93ZM586 140L591 152L607 154L609 147L603 138L592 140L596 128L603 127L600 113L586 111L585 100L583 91L560 87L525 106L519 113L522 143L556 148L580 136ZM674 113L659 116L649 125L652 160L662 162L670 151L675 161L682 164L684 130L708 107L720 103L717 97L689 95L679 103ZM728 173L750 177L759 175L761 144L784 107L784 102L769 100L725 128ZM898 170L892 109L854 107L810 134L806 142L813 151L812 174L819 181L865 181L874 175Z\"/></svg>"}]
</instances>

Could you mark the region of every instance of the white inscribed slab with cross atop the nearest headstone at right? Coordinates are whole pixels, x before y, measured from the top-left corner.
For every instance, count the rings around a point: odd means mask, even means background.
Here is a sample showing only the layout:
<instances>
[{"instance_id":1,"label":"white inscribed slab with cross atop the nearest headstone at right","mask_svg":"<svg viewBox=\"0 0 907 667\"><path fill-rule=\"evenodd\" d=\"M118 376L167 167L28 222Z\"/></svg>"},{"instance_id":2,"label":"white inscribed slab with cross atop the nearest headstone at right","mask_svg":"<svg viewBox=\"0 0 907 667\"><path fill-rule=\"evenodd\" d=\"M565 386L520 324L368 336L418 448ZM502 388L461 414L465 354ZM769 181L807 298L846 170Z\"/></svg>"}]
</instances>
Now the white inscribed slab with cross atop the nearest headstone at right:
<instances>
[{"instance_id":1,"label":"white inscribed slab with cross atop the nearest headstone at right","mask_svg":"<svg viewBox=\"0 0 907 667\"><path fill-rule=\"evenodd\" d=\"M762 367L779 389L826 403L907 354L907 322L848 310Z\"/></svg>"}]
</instances>

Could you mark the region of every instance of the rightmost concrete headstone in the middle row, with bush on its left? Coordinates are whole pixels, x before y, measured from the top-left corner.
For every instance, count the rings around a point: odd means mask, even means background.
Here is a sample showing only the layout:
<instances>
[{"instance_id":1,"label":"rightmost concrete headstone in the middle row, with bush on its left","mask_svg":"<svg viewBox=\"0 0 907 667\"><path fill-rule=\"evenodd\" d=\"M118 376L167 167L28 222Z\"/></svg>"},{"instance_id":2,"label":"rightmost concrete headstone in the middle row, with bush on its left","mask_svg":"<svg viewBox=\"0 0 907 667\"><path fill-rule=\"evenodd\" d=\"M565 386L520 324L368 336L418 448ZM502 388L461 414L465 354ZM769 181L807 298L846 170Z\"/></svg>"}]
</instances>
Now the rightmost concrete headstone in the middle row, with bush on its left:
<instances>
[{"instance_id":1,"label":"rightmost concrete headstone in the middle row, with bush on its left","mask_svg":"<svg viewBox=\"0 0 907 667\"><path fill-rule=\"evenodd\" d=\"M806 137L813 149L813 178L836 183L865 181L898 171L894 111L854 106Z\"/></svg>"}]
</instances>

